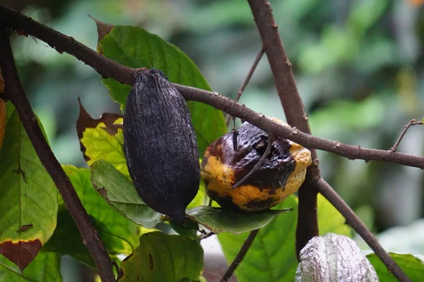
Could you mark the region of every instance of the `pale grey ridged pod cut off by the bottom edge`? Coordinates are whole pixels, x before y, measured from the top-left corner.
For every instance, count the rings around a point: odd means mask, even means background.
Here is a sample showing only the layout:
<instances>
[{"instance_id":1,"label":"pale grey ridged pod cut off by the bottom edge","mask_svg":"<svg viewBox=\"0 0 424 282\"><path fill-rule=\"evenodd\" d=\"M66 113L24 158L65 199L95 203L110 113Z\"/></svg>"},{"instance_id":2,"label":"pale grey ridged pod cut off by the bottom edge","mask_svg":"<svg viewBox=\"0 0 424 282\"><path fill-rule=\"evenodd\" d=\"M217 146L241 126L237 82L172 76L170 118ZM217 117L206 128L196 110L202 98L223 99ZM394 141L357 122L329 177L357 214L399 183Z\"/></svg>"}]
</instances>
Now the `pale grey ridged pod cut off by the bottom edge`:
<instances>
[{"instance_id":1,"label":"pale grey ridged pod cut off by the bottom edge","mask_svg":"<svg viewBox=\"0 0 424 282\"><path fill-rule=\"evenodd\" d=\"M351 238L334 233L312 238L300 251L296 282L379 281Z\"/></svg>"}]
</instances>

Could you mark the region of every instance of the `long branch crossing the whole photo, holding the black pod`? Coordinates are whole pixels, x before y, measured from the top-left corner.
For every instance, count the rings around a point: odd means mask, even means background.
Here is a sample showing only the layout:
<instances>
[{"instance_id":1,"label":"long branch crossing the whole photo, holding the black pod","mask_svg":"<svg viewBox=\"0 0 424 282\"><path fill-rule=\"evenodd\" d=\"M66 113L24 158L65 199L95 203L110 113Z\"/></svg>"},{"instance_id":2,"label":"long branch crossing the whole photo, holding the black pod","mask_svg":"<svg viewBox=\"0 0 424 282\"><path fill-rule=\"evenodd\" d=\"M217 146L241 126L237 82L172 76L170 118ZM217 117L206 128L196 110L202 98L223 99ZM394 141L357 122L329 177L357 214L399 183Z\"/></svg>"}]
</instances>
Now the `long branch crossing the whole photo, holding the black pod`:
<instances>
[{"instance_id":1,"label":"long branch crossing the whole photo, holding the black pod","mask_svg":"<svg viewBox=\"0 0 424 282\"><path fill-rule=\"evenodd\" d=\"M1 5L0 22L4 22L10 27L22 30L28 35L33 35L47 42L47 44L53 48L68 52L75 56L76 59L81 60L88 66L94 68L95 71L102 74L104 77L113 78L127 85L132 85L134 72L136 71L135 68L122 66L115 61L107 59L106 57L96 53L94 50L77 42L72 37L62 35L56 30L52 30L45 25L37 23L35 20ZM320 149L326 152L338 154L348 159L385 161L424 169L424 157L401 154L398 152L388 152L387 150L366 148L358 149L356 146L315 137L313 135L303 133L301 130L295 130L295 128L288 128L280 125L271 119L266 118L264 115L259 114L256 111L252 111L252 109L247 108L247 106L234 102L231 99L228 99L228 97L220 95L217 92L178 85L176 83L174 83L174 85L186 100L202 102L204 104L214 106L216 109L220 109L232 116L237 116L238 118L242 118L243 120L252 123L268 134L275 135L276 137L283 137L292 140L303 147L307 147L311 150L311 152L314 151L313 149ZM313 162L312 166L317 166L317 164Z\"/></svg>"}]
</instances>

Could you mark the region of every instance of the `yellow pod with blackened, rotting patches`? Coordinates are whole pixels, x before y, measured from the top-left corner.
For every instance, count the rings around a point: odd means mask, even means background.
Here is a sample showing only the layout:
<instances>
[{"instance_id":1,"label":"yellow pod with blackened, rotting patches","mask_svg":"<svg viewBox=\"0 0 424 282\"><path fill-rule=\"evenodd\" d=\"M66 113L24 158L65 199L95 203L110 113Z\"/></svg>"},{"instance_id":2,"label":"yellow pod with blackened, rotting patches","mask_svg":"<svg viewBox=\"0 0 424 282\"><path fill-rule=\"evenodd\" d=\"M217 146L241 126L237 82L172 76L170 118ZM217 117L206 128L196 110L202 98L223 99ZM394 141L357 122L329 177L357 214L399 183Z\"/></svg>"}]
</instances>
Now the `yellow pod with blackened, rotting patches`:
<instances>
[{"instance_id":1,"label":"yellow pod with blackened, rotting patches","mask_svg":"<svg viewBox=\"0 0 424 282\"><path fill-rule=\"evenodd\" d=\"M273 121L286 125L273 118ZM227 209L250 212L269 209L298 191L312 163L305 147L281 137L271 145L268 157L242 185L232 188L261 159L268 145L268 134L250 123L238 130L237 151L232 133L206 148L201 162L201 177L212 200Z\"/></svg>"}]
</instances>

